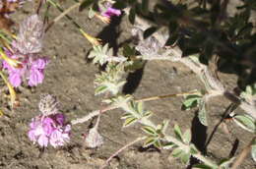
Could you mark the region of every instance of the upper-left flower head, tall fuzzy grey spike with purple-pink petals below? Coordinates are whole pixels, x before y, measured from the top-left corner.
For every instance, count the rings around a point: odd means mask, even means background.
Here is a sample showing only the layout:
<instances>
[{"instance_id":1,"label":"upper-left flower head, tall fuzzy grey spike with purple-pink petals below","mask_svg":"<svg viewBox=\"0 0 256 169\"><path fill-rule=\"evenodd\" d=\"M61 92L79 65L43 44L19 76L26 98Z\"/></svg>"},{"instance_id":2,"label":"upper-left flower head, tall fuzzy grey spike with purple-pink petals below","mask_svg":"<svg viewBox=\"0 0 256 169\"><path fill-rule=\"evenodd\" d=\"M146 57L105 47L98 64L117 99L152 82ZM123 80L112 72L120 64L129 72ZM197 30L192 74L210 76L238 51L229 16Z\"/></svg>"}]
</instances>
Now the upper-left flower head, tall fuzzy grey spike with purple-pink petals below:
<instances>
[{"instance_id":1,"label":"upper-left flower head, tall fuzzy grey spike with purple-pink petals below","mask_svg":"<svg viewBox=\"0 0 256 169\"><path fill-rule=\"evenodd\" d=\"M37 53L41 50L43 24L37 15L26 19L21 27L17 39L12 43L12 50L5 49L6 55L19 60L22 68L15 68L8 62L3 62L3 68L9 73L10 83L17 87L28 80L30 86L41 84L44 79L44 69L49 60Z\"/></svg>"}]
</instances>

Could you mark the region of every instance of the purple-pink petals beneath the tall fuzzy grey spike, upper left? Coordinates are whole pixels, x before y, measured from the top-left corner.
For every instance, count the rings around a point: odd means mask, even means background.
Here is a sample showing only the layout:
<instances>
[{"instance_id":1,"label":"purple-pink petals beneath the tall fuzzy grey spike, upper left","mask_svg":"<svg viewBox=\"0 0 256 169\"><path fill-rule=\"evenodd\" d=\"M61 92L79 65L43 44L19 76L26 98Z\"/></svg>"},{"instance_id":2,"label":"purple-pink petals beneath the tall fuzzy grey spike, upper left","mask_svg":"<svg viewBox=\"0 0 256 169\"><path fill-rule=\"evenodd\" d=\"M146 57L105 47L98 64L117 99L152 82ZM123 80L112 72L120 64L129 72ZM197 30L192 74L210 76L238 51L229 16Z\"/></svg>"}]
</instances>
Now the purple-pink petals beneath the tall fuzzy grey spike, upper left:
<instances>
[{"instance_id":1,"label":"purple-pink petals beneath the tall fuzzy grey spike, upper left","mask_svg":"<svg viewBox=\"0 0 256 169\"><path fill-rule=\"evenodd\" d=\"M3 61L3 68L8 71L9 81L13 86L20 86L26 80L29 80L30 86L42 83L43 71L49 62L46 57L39 57L36 54L12 54L10 51L6 51L6 54L12 59L23 59L22 68L14 68Z\"/></svg>"}]
</instances>

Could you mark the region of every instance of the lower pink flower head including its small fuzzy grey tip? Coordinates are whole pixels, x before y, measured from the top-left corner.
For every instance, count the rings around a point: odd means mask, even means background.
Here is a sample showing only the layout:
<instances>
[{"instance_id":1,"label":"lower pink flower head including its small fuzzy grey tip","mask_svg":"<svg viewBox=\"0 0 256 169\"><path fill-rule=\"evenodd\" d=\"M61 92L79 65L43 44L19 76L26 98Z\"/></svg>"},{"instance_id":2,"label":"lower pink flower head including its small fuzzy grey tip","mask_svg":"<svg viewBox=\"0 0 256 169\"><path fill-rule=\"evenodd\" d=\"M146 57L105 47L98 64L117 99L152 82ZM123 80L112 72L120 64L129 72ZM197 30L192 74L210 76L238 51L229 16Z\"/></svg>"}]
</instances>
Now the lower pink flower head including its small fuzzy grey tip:
<instances>
[{"instance_id":1,"label":"lower pink flower head including its small fuzzy grey tip","mask_svg":"<svg viewBox=\"0 0 256 169\"><path fill-rule=\"evenodd\" d=\"M65 116L58 113L59 103L55 96L43 94L38 104L41 115L32 118L29 138L40 146L51 144L54 147L64 145L70 139L71 125L65 122Z\"/></svg>"}]
</instances>

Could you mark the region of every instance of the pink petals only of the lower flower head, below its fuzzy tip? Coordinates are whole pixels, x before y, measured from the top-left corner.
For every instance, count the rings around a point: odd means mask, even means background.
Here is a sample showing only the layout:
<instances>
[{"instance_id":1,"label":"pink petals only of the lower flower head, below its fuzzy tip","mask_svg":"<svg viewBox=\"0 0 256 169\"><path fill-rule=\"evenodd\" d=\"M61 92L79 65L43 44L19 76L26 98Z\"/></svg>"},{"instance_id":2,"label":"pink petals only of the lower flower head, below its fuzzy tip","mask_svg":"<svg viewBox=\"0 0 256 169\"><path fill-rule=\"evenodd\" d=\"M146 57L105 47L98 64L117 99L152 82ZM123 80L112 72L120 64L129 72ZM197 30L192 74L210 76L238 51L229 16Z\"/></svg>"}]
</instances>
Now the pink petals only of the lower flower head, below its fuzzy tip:
<instances>
[{"instance_id":1,"label":"pink petals only of the lower flower head, below its fuzzy tip","mask_svg":"<svg viewBox=\"0 0 256 169\"><path fill-rule=\"evenodd\" d=\"M40 146L53 147L62 146L70 140L71 126L65 124L65 116L57 113L50 116L36 116L32 118L28 136L33 143L37 142Z\"/></svg>"}]
</instances>

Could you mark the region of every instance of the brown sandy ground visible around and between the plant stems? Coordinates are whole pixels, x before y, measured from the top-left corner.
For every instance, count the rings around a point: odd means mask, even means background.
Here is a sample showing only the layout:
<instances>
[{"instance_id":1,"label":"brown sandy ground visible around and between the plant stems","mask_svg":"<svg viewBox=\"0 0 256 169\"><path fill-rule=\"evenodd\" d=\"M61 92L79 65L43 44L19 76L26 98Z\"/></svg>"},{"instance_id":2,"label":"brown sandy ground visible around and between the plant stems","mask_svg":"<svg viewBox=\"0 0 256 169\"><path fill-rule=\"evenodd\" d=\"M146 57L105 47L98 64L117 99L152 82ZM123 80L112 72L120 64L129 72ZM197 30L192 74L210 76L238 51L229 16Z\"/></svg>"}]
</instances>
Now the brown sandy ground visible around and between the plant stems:
<instances>
[{"instance_id":1,"label":"brown sandy ground visible around and between the plant stems","mask_svg":"<svg viewBox=\"0 0 256 169\"><path fill-rule=\"evenodd\" d=\"M68 7L70 3L65 3ZM23 11L13 17L17 23L28 14L32 14L34 6L26 4ZM59 13L52 9L51 19ZM118 49L118 45L130 38L131 26L126 17L116 19L105 26L99 21L90 21L87 12L71 12L83 28L88 32ZM121 23L121 25L119 25ZM109 111L102 115L99 133L104 144L97 149L85 146L82 135L88 130L90 123L73 126L71 141L58 149L47 147L40 149L29 141L27 133L32 117L39 111L37 102L41 93L52 93L61 102L61 111L69 120L83 117L90 111L99 109L100 96L94 94L95 74L98 68L88 63L87 53L90 43L63 19L54 25L44 39L43 54L51 58L45 72L43 84L35 88L23 86L20 89L21 106L13 111L4 108L5 116L0 117L0 168L5 169L95 169L104 163L115 150L124 144L142 136L140 126L122 129L121 110ZM143 70L127 75L128 84L123 89L136 98L166 93L177 93L200 89L200 80L186 67L178 63L153 61L148 62ZM235 76L221 75L225 84L233 85ZM6 100L1 100L5 107ZM237 128L233 122L225 122L213 133L222 118L229 102L224 98L214 98L208 106L211 123L208 128L200 125L196 118L196 109L181 110L182 98L169 98L147 102L146 106L155 115L152 119L161 122L170 121L170 126L179 124L184 131L191 129L193 142L210 158L220 161L221 158L236 155L251 140L252 136ZM171 131L171 128L169 129ZM213 137L211 135L213 134ZM211 139L211 141L209 141ZM209 141L207 147L204 145ZM187 166L172 158L168 150L154 147L142 148L142 142L123 151L114 158L109 168L115 169L184 169ZM247 157L241 169L256 168L251 157Z\"/></svg>"}]
</instances>

